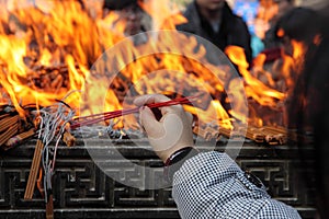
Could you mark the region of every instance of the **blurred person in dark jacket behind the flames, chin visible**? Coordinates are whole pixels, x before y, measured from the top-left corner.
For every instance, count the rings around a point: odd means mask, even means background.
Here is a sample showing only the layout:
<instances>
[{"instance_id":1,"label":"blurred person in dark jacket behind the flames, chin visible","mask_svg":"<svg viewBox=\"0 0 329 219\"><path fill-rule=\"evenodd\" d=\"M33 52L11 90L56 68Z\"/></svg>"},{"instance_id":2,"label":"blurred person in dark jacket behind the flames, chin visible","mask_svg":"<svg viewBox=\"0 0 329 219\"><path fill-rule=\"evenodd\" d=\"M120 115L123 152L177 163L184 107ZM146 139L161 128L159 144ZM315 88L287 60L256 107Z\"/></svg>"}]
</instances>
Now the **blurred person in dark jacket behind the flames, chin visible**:
<instances>
[{"instance_id":1,"label":"blurred person in dark jacket behind the flames, chin visible","mask_svg":"<svg viewBox=\"0 0 329 219\"><path fill-rule=\"evenodd\" d=\"M186 5L183 15L188 23L177 25L178 31L198 35L222 50L228 45L240 46L251 64L251 36L248 26L225 0L193 0Z\"/></svg>"}]
</instances>

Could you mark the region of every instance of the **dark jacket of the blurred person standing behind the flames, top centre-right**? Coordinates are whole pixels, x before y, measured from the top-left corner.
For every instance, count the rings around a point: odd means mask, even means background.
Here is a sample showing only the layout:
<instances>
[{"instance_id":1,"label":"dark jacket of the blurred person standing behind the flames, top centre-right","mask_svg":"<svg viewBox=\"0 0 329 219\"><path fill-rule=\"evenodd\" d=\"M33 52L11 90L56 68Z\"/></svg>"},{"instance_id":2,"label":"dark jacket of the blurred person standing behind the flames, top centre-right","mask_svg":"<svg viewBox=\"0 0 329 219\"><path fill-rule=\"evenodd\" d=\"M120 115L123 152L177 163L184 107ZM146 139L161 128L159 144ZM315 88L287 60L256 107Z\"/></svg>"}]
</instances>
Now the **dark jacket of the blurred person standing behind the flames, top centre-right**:
<instances>
[{"instance_id":1,"label":"dark jacket of the blurred person standing behind the flames, top centre-right","mask_svg":"<svg viewBox=\"0 0 329 219\"><path fill-rule=\"evenodd\" d=\"M241 18L232 13L226 2L223 8L222 23L218 33L215 33L211 24L201 15L195 1L186 7L183 15L188 19L188 23L178 25L178 31L198 35L215 44L223 51L228 45L240 46L245 48L247 61L251 64L251 36L247 24Z\"/></svg>"}]
</instances>

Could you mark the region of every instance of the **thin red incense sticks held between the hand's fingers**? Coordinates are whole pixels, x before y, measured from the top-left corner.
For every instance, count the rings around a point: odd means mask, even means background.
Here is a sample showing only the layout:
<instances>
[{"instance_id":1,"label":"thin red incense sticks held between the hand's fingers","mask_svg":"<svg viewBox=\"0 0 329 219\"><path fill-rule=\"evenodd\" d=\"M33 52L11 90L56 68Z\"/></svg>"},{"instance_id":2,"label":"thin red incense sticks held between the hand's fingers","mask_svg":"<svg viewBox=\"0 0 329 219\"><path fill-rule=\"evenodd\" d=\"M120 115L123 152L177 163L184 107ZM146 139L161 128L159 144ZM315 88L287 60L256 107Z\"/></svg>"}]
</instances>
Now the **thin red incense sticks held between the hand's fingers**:
<instances>
[{"instance_id":1,"label":"thin red incense sticks held between the hand's fingers","mask_svg":"<svg viewBox=\"0 0 329 219\"><path fill-rule=\"evenodd\" d=\"M189 97L179 97L179 99L173 99L171 101L166 101L161 103L151 103L147 104L149 108L159 108L163 106L172 106L172 105L178 105L178 104L191 104L193 101L196 101L197 96L189 96ZM120 111L113 111L113 112L106 112L106 113L101 113L101 114L93 114L89 116L80 116L78 117L72 124L71 124L71 129L81 127L81 126L89 126L97 124L99 122L103 120L109 120L118 116L124 116L133 113L138 113L139 108L141 106L135 107L135 108L128 108L128 110L120 110ZM78 122L77 122L78 120Z\"/></svg>"}]
</instances>

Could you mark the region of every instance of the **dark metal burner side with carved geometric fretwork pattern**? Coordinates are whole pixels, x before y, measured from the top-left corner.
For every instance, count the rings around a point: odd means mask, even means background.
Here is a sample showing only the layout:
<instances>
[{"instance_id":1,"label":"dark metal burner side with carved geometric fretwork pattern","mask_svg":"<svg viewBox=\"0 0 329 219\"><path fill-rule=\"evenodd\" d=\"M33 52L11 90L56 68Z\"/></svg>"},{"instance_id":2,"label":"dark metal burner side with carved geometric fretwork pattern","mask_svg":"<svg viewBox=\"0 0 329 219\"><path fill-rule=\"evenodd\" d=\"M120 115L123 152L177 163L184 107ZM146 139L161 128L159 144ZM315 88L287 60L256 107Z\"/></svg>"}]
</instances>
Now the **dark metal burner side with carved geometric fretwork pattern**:
<instances>
[{"instance_id":1,"label":"dark metal burner side with carved geometric fretwork pattern","mask_svg":"<svg viewBox=\"0 0 329 219\"><path fill-rule=\"evenodd\" d=\"M109 151L106 142L94 143L104 146L100 152ZM1 152L0 218L45 218L44 198L37 189L32 200L24 200L34 145L30 142ZM125 186L100 170L82 145L58 149L53 177L55 218L179 218L170 186L159 189ZM224 148L218 143L216 150L223 151ZM128 140L122 140L116 149L138 165L162 166L151 150L132 147ZM200 149L206 151L206 142ZM236 161L242 170L251 171L262 180L272 197L296 207L303 218L313 218L314 192L296 180L296 151L285 146L271 148L249 142L240 149ZM152 180L162 177L161 171L138 172L131 166L123 171L125 161L118 160L117 163L117 169L109 171L116 171L123 178L152 183Z\"/></svg>"}]
</instances>

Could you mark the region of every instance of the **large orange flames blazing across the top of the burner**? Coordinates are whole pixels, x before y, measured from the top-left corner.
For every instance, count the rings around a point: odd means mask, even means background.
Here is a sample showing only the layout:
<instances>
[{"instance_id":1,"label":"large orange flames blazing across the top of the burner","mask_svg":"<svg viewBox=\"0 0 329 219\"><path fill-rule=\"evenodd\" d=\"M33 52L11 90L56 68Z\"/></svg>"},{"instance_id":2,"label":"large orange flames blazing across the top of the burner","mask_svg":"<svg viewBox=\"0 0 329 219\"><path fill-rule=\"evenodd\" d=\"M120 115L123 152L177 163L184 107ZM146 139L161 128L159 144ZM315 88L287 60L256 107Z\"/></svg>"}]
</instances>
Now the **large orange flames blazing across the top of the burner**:
<instances>
[{"instance_id":1,"label":"large orange flames blazing across the top of the burner","mask_svg":"<svg viewBox=\"0 0 329 219\"><path fill-rule=\"evenodd\" d=\"M231 128L232 118L248 122L241 93L273 108L286 97L251 74L241 48L231 46L226 54L238 66L243 84L228 80L229 65L209 64L205 58L207 49L194 36L175 33L172 37L174 31L156 32L174 30L186 22L169 0L161 8L154 0L144 1L141 8L151 15L155 32L148 33L148 41L138 46L124 35L125 24L116 23L116 12L91 14L78 1L36 1L33 5L23 2L0 1L0 102L12 103L21 116L26 104L47 106L70 92L65 101L79 110L78 115L128 107L129 95L203 93L209 95L203 95L206 105L185 108L205 123L215 119ZM123 42L124 46L117 46ZM106 56L101 56L104 51ZM296 50L295 56L304 53ZM291 65L283 66L284 70L290 68ZM291 77L285 78L288 81ZM228 94L224 102L232 107L226 108L218 100L223 92ZM89 103L80 107L83 100ZM262 123L261 117L251 119Z\"/></svg>"}]
</instances>

